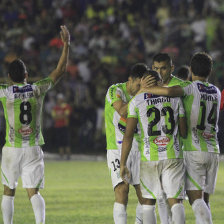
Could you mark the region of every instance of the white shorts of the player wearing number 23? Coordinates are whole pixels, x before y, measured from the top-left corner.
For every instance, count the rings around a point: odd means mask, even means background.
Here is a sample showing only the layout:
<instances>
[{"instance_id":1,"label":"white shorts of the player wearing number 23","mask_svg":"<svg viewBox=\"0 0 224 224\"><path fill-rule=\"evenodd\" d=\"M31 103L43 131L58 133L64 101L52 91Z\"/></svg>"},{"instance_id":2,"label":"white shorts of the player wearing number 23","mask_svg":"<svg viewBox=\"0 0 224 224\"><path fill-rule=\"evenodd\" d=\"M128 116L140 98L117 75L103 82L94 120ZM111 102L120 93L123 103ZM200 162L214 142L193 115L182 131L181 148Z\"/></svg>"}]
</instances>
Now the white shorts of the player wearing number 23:
<instances>
[{"instance_id":1,"label":"white shorts of the player wearing number 23","mask_svg":"<svg viewBox=\"0 0 224 224\"><path fill-rule=\"evenodd\" d=\"M183 159L141 161L141 191L144 198L184 198L185 167Z\"/></svg>"}]
</instances>

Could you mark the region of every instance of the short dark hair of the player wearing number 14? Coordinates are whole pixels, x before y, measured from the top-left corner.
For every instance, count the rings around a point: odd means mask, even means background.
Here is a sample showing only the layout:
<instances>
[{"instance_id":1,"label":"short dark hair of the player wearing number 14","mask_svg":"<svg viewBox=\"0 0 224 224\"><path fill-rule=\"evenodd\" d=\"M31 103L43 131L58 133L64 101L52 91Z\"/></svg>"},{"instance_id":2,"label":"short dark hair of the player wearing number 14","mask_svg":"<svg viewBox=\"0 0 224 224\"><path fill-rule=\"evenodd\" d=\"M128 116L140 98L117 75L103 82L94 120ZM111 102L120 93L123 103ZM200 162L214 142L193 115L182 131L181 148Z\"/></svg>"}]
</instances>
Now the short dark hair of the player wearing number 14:
<instances>
[{"instance_id":1,"label":"short dark hair of the player wearing number 14","mask_svg":"<svg viewBox=\"0 0 224 224\"><path fill-rule=\"evenodd\" d=\"M212 71L212 58L206 52L198 52L191 58L191 71L196 76L208 77Z\"/></svg>"}]
</instances>

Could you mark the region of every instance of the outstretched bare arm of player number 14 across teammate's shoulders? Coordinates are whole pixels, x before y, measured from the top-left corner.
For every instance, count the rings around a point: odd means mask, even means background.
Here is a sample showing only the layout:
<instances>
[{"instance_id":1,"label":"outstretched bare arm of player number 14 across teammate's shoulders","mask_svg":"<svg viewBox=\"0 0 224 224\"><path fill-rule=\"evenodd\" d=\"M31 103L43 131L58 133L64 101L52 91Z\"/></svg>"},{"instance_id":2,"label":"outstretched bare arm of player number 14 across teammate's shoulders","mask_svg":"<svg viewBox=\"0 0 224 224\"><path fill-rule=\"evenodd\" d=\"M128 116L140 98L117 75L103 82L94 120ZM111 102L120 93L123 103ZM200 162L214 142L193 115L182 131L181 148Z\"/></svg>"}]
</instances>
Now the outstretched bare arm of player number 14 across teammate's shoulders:
<instances>
[{"instance_id":1,"label":"outstretched bare arm of player number 14 across teammate's shoulders","mask_svg":"<svg viewBox=\"0 0 224 224\"><path fill-rule=\"evenodd\" d=\"M152 93L159 96L172 96L172 97L178 97L184 95L184 91L180 86L172 86L172 87L153 86L149 88L144 88L141 90L141 92Z\"/></svg>"}]
</instances>

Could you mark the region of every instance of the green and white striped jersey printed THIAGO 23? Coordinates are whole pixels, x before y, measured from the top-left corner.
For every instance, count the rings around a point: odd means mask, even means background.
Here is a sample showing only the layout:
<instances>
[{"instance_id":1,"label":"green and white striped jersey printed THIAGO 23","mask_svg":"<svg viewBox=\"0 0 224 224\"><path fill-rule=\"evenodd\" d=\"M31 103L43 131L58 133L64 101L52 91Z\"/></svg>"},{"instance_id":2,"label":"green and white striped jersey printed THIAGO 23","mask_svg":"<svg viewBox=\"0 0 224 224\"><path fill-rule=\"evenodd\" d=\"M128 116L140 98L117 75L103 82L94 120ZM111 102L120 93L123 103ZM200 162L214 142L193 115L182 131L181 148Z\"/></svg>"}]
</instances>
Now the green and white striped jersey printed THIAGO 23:
<instances>
[{"instance_id":1,"label":"green and white striped jersey printed THIAGO 23","mask_svg":"<svg viewBox=\"0 0 224 224\"><path fill-rule=\"evenodd\" d=\"M130 101L128 117L139 122L142 161L183 158L178 122L184 114L179 97L141 93Z\"/></svg>"}]
</instances>

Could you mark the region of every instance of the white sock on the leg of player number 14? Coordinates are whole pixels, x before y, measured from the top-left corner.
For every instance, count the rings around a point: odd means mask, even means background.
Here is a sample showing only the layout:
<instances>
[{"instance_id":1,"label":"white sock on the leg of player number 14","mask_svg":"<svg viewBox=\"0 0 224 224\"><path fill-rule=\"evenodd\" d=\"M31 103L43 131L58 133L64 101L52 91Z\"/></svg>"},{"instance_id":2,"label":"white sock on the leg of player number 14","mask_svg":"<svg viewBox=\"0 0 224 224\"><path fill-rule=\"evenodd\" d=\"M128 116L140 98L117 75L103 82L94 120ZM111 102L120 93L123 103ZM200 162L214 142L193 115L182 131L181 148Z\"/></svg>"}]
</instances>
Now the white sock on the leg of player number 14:
<instances>
[{"instance_id":1,"label":"white sock on the leg of player number 14","mask_svg":"<svg viewBox=\"0 0 224 224\"><path fill-rule=\"evenodd\" d=\"M192 204L197 224L212 224L210 210L203 199L197 199Z\"/></svg>"}]
</instances>

